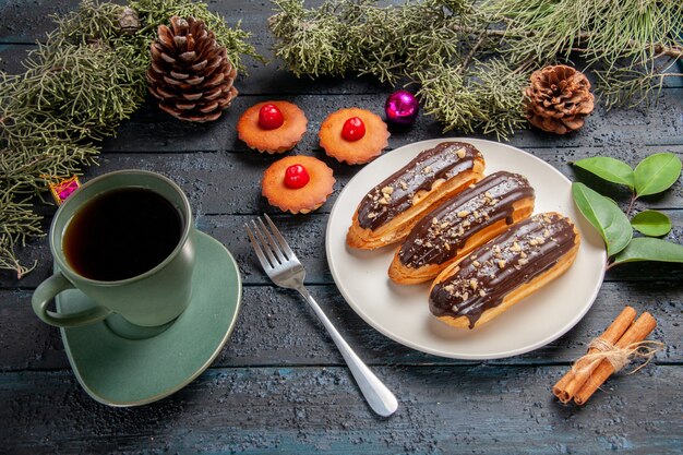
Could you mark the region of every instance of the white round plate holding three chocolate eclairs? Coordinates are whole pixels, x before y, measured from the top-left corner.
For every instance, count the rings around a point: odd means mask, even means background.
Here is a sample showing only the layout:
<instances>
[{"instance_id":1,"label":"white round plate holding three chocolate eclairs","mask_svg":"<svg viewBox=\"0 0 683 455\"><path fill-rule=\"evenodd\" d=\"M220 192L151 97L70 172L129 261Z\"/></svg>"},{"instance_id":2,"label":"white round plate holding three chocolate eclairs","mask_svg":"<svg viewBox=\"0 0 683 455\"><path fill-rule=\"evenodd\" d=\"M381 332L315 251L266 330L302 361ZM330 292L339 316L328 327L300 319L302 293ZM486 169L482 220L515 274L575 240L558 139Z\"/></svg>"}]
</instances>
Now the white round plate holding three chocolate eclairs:
<instances>
[{"instance_id":1,"label":"white round plate holding three chocolate eclairs","mask_svg":"<svg viewBox=\"0 0 683 455\"><path fill-rule=\"evenodd\" d=\"M469 142L479 148L486 159L486 175L508 170L526 176L536 190L535 213L554 211L566 215L576 223L582 236L576 261L564 275L471 331L451 327L431 315L429 284L402 286L388 279L387 270L397 246L373 251L346 246L346 232L366 193L420 152L444 141ZM367 165L337 197L325 238L332 275L346 301L366 322L410 348L472 360L538 349L580 321L596 299L604 275L604 244L574 206L571 188L571 181L548 163L498 142L439 139L405 145Z\"/></svg>"}]
</instances>

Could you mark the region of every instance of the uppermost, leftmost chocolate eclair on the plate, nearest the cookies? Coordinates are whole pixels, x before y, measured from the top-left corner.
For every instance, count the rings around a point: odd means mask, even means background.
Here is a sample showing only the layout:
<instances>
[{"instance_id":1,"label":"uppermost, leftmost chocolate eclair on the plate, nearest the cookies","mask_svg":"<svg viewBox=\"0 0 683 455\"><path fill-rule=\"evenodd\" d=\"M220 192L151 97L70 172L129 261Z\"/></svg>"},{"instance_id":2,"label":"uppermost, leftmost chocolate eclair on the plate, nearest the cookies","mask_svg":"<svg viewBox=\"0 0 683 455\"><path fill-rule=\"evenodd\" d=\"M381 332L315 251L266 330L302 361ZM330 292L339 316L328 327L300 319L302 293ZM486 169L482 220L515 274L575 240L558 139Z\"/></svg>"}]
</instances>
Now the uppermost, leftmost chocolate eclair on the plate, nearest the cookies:
<instances>
[{"instance_id":1,"label":"uppermost, leftmost chocolate eclair on the plate, nearest the cookies","mask_svg":"<svg viewBox=\"0 0 683 455\"><path fill-rule=\"evenodd\" d=\"M406 238L430 209L483 177L481 153L442 142L374 187L361 200L346 236L349 247L375 249Z\"/></svg>"}]
</instances>

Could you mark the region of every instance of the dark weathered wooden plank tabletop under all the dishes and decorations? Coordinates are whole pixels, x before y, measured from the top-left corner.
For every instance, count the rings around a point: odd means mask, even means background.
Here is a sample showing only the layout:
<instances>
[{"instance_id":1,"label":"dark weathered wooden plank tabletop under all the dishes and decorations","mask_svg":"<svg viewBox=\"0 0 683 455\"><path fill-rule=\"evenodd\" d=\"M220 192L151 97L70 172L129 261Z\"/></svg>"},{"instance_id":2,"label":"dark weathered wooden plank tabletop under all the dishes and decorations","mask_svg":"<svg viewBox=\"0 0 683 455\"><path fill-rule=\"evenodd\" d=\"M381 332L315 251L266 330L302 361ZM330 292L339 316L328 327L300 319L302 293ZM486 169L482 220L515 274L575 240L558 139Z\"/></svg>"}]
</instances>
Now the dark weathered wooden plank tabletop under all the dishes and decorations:
<instances>
[{"instance_id":1,"label":"dark weathered wooden plank tabletop under all the dishes and decorations","mask_svg":"<svg viewBox=\"0 0 683 455\"><path fill-rule=\"evenodd\" d=\"M75 9L77 0L0 1L0 58L21 70L25 51L52 28L49 13ZM253 33L262 53L267 1L212 1ZM320 151L316 131L325 116L359 106L382 111L392 87L367 79L296 80L277 63L254 63L240 76L240 96L212 124L180 123L145 105L105 142L100 165L84 179L122 168L151 169L176 180L190 195L201 230L219 239L239 262L243 306L218 359L189 386L152 405L110 408L79 386L58 330L31 310L33 289L51 267L47 240L22 253L38 267L17 280L0 273L1 453L572 453L616 450L633 454L683 452L683 267L633 264L607 274L588 314L560 339L534 352L495 361L459 361L424 355L368 326L335 287L324 254L327 216L338 192L359 167L343 166ZM670 151L683 156L683 83L664 88L659 104L613 110L602 107L578 133L558 137L520 131L511 139L571 179L570 161L609 155L635 165ZM280 98L301 106L309 132L295 153L321 157L337 177L335 194L305 216L278 214L260 192L261 172L275 158L249 151L236 135L239 115L256 101ZM600 106L600 105L599 105ZM440 137L439 124L420 117L393 130L391 148ZM489 137L491 139L491 137ZM391 152L390 152L391 153ZM614 188L599 187L615 197ZM683 187L638 203L673 220L669 239L683 243ZM40 207L49 223L53 207ZM379 418L360 396L322 326L295 294L274 287L257 267L242 230L254 214L273 214L298 246L308 285L359 355L396 393L399 409ZM634 375L612 378L587 406L562 406L550 387L624 304L650 311L654 338L667 344Z\"/></svg>"}]
</instances>

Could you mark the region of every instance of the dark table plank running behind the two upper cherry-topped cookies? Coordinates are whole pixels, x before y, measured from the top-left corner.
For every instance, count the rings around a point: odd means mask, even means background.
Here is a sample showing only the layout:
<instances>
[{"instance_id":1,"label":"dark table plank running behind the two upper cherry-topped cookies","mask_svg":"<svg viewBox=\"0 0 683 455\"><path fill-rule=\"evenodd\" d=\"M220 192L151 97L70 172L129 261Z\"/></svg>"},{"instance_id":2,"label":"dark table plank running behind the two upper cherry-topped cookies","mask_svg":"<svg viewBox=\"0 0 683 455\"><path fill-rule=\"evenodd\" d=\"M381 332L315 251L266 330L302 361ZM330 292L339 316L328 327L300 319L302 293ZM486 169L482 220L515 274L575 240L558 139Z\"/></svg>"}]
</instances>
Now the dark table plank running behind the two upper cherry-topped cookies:
<instances>
[{"instance_id":1,"label":"dark table plank running behind the two upper cherry-topped cookies","mask_svg":"<svg viewBox=\"0 0 683 455\"><path fill-rule=\"evenodd\" d=\"M277 72L272 74L277 77ZM239 80L238 80L239 81ZM248 79L251 84L251 80ZM309 84L301 81L300 84ZM242 89L239 82L238 88ZM257 87L252 86L253 89ZM265 88L265 87L264 87ZM308 133L295 148L296 153L304 153L319 148L317 130L323 119L343 106L356 106L382 113L382 107L391 87L383 87L373 94L296 94L286 96L238 96L231 107L216 122L211 124L188 124L175 120L170 116L161 116L156 107L146 105L121 127L116 139L105 142L108 151L247 151L247 146L237 139L233 124L248 107L268 99L287 99L296 103L309 118ZM606 112L598 107L588 118L586 125L575 134L556 136L537 130L522 130L515 133L511 143L515 146L529 148L567 148L567 147L610 147L620 153L621 148L642 147L643 145L676 145L683 142L683 89L670 88L662 91L657 108L646 111L645 107L630 110L611 110ZM440 136L442 128L429 116L420 116L408 129L390 129L390 146L392 148L416 141L416 137ZM457 136L458 132L450 135ZM484 137L475 134L472 137ZM612 147L616 147L613 149Z\"/></svg>"}]
</instances>

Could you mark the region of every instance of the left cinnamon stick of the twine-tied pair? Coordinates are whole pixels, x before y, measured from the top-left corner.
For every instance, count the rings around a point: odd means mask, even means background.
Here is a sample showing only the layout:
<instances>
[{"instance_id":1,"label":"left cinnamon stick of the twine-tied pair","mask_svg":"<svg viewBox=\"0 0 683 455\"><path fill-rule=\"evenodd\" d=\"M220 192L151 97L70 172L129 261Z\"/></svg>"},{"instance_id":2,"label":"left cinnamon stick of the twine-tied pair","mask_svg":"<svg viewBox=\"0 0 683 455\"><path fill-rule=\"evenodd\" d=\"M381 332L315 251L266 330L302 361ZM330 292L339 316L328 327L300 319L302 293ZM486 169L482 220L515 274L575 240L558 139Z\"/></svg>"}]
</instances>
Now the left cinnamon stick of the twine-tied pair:
<instances>
[{"instance_id":1,"label":"left cinnamon stick of the twine-tied pair","mask_svg":"<svg viewBox=\"0 0 683 455\"><path fill-rule=\"evenodd\" d=\"M632 307L625 307L616 319L610 324L609 327L599 336L600 339L607 342L610 345L615 344L626 330L636 319L636 310ZM597 352L597 348L588 349L588 354ZM588 378L592 371L598 367L599 362L589 363L582 361L580 359L558 383L552 387L552 393L560 399L560 402L567 404L572 400L574 395L583 387L588 381ZM578 371L578 373L575 373Z\"/></svg>"}]
</instances>

